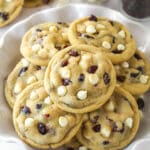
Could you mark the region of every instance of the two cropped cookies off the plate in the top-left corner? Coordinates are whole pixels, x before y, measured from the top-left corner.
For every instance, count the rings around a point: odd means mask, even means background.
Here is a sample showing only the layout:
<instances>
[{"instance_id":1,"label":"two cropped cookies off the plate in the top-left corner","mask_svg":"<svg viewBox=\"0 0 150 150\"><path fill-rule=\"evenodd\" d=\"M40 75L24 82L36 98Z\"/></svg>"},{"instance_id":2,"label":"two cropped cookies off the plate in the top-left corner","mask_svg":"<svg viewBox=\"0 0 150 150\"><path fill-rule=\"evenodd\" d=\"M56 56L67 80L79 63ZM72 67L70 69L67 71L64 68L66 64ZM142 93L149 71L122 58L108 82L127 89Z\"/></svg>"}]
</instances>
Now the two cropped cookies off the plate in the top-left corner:
<instances>
[{"instance_id":1,"label":"two cropped cookies off the plate in the top-left corner","mask_svg":"<svg viewBox=\"0 0 150 150\"><path fill-rule=\"evenodd\" d=\"M50 0L0 0L0 27L16 19L23 7L36 7L48 4Z\"/></svg>"}]
</instances>

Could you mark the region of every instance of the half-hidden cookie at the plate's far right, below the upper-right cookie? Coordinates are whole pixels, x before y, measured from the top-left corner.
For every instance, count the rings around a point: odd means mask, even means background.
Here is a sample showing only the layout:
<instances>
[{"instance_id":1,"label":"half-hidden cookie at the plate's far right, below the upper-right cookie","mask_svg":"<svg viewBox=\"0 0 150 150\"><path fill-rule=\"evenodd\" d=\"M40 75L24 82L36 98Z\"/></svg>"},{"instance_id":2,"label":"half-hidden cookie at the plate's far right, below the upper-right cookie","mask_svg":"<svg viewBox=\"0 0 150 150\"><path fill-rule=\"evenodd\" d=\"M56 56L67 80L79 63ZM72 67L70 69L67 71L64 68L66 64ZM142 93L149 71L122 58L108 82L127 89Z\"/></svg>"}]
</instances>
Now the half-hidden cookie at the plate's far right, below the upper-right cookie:
<instances>
[{"instance_id":1,"label":"half-hidden cookie at the plate's far right, below the upper-right cookie","mask_svg":"<svg viewBox=\"0 0 150 150\"><path fill-rule=\"evenodd\" d=\"M133 95L141 95L149 89L150 64L144 54L137 50L125 62L115 66L117 81L121 87Z\"/></svg>"}]
</instances>

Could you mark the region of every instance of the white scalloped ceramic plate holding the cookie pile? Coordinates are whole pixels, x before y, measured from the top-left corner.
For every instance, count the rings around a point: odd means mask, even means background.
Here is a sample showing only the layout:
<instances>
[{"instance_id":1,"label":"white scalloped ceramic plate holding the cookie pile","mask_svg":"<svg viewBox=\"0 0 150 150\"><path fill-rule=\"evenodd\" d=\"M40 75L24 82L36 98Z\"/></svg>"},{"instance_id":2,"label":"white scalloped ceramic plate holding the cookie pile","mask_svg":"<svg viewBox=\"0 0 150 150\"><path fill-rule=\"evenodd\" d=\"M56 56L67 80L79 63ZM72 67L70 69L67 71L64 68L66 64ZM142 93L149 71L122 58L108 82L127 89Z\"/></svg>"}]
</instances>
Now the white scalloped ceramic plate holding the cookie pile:
<instances>
[{"instance_id":1,"label":"white scalloped ceramic plate holding the cookie pile","mask_svg":"<svg viewBox=\"0 0 150 150\"><path fill-rule=\"evenodd\" d=\"M142 25L124 17L121 13L100 6L72 4L62 8L47 9L33 14L24 21L12 26L0 40L0 146L1 149L8 147L13 150L33 150L24 144L16 135L12 125L12 112L5 102L3 85L4 79L13 69L20 58L19 47L25 32L33 25L42 22L71 22L74 19L88 16L100 15L122 22L128 27L137 41L138 47L146 53L150 59L150 32ZM145 109L141 121L140 130L135 140L126 150L148 150L150 147L150 93L145 95ZM7 144L6 144L7 143ZM16 145L17 144L17 147ZM5 146L4 146L5 145ZM7 147L6 147L7 145ZM14 146L15 145L15 146ZM4 148L3 148L4 147Z\"/></svg>"}]
</instances>

